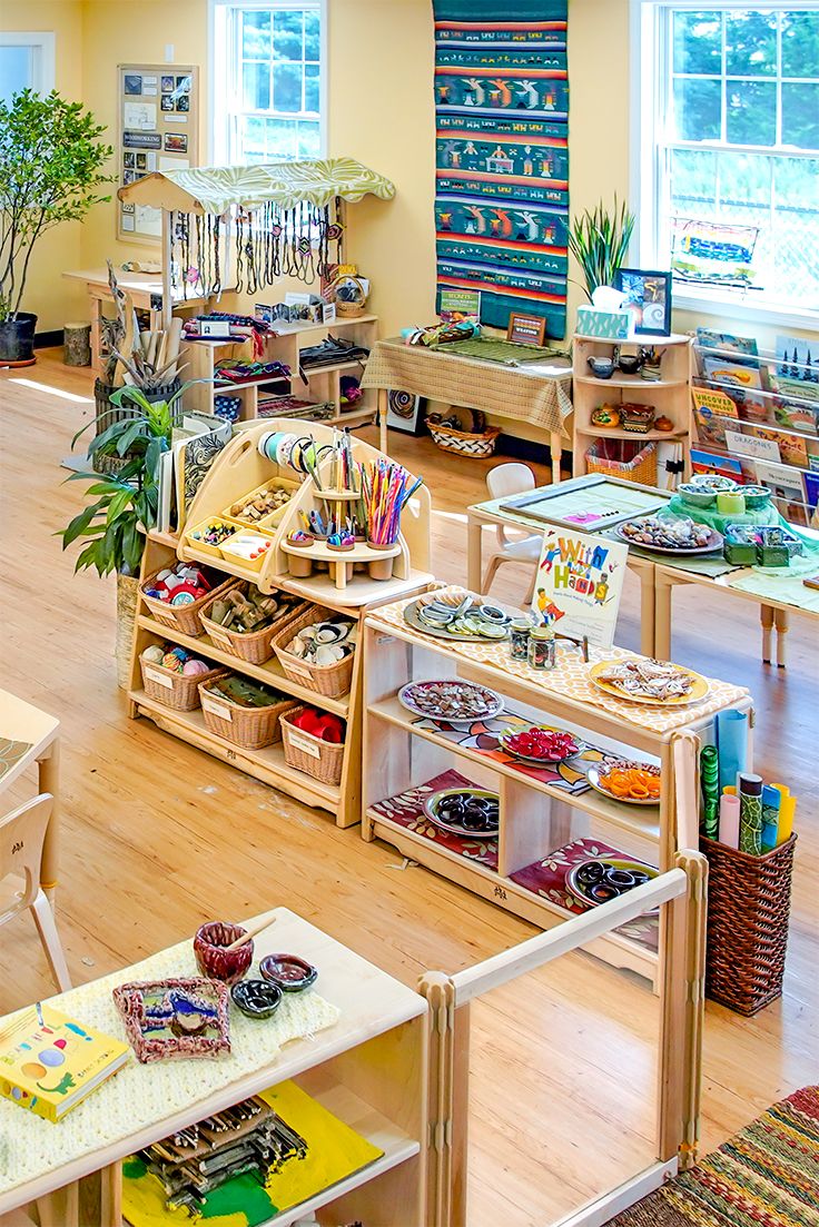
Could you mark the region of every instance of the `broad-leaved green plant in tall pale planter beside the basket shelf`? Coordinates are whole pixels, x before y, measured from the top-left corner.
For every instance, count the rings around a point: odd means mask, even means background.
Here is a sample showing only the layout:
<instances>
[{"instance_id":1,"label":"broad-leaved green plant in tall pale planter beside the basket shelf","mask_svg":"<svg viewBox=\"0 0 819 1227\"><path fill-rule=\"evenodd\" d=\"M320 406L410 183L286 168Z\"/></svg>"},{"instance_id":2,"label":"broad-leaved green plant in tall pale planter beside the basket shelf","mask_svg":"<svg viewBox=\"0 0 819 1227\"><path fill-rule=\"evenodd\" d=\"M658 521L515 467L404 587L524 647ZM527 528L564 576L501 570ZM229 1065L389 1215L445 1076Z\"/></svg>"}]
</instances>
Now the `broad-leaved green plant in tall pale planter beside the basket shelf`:
<instances>
[{"instance_id":1,"label":"broad-leaved green plant in tall pale planter beside the basket shelf","mask_svg":"<svg viewBox=\"0 0 819 1227\"><path fill-rule=\"evenodd\" d=\"M130 459L118 474L101 479L97 472L77 472L68 481L91 481L86 493L92 498L58 535L63 548L85 540L76 571L95 567L101 575L117 573L117 681L129 683L130 647L136 610L136 584L145 548L145 530L157 520L160 501L160 460L171 448L176 426L182 425L182 396L190 383L183 384L168 400L150 401L138 388L120 388L112 401L122 411L119 421L107 426L88 445L93 461L97 453ZM96 421L74 437L74 443Z\"/></svg>"}]
</instances>

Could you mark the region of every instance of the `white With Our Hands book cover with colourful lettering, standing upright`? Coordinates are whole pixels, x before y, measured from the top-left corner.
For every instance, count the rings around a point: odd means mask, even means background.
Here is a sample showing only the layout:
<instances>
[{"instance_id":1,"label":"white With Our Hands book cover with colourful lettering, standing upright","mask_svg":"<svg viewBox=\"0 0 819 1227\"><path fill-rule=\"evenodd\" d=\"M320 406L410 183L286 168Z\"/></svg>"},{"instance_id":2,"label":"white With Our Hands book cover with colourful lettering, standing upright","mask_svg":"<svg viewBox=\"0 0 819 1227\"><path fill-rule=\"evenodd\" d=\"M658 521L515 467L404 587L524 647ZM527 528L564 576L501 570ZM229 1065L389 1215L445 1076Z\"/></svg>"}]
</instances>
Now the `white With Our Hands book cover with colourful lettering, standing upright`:
<instances>
[{"instance_id":1,"label":"white With Our Hands book cover with colourful lettering, standing upright","mask_svg":"<svg viewBox=\"0 0 819 1227\"><path fill-rule=\"evenodd\" d=\"M629 547L571 529L546 529L532 609L561 634L610 648Z\"/></svg>"}]
</instances>

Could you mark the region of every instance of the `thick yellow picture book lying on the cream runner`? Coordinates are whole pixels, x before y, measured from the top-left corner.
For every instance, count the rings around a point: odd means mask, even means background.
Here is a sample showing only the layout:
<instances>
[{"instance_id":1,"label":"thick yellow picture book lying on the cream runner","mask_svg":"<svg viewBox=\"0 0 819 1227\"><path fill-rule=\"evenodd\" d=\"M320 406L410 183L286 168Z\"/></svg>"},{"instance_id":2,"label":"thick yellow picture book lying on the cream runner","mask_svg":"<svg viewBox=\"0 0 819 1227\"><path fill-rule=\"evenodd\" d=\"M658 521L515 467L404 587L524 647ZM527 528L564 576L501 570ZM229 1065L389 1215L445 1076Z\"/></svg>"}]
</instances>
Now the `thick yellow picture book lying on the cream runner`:
<instances>
[{"instance_id":1,"label":"thick yellow picture book lying on the cream runner","mask_svg":"<svg viewBox=\"0 0 819 1227\"><path fill-rule=\"evenodd\" d=\"M39 1010L0 1031L0 1094L56 1123L125 1064L130 1048L49 1005Z\"/></svg>"}]
</instances>

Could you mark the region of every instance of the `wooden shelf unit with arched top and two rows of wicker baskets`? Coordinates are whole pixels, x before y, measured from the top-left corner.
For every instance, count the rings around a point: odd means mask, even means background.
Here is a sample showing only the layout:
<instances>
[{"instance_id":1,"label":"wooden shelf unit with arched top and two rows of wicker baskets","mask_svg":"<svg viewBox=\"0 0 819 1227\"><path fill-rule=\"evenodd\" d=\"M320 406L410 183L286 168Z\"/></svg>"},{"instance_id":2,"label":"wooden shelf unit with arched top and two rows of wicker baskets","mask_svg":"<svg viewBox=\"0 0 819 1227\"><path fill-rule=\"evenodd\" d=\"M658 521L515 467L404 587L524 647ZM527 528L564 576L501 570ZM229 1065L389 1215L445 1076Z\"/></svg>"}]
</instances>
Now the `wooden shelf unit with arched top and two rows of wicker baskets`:
<instances>
[{"instance_id":1,"label":"wooden shelf unit with arched top and two rows of wicker baskets","mask_svg":"<svg viewBox=\"0 0 819 1227\"><path fill-rule=\"evenodd\" d=\"M279 429L303 428L303 423L295 420L276 418ZM195 526L211 517L220 515L227 507L264 482L273 477L293 479L292 470L281 470L276 464L260 455L257 448L258 439L265 434L271 426L259 425L242 431L220 454L216 464L208 474L203 485L192 503L188 518L188 528ZM311 423L309 433L317 443L329 443L335 433L324 423ZM355 460L372 460L378 456L375 448L361 442L352 440L352 455ZM193 548L183 535L177 537L171 534L150 533L142 556L140 572L140 595L138 598L134 648L131 655L131 676L129 687L129 714L131 718L145 717L173 736L204 750L222 762L228 762L239 771L253 775L264 784L276 788L305 805L316 806L329 811L335 817L339 827L350 827L361 820L361 631L363 612L384 601L397 600L399 596L409 595L413 591L424 590L432 575L425 569L429 567L430 553L430 496L421 487L411 503L404 509L403 524L405 534L400 537L400 546L394 560L394 574L387 580L376 580L365 573L354 574L352 579L344 589L339 589L333 583L327 572L317 572L307 579L295 579L287 572L287 555L281 548L291 528L298 525L298 512L317 504L317 492L312 481L305 481L293 493L287 504L285 515L274 531L274 546L265 558L262 571L236 566L233 563L214 557ZM344 557L343 555L340 557ZM383 557L375 553L376 560ZM352 667L352 680L349 694L340 698L325 698L306 686L292 682L281 669L278 658L274 655L264 665L250 665L238 656L216 647L208 634L188 636L178 631L166 628L152 616L151 610L141 596L141 584L144 580L163 567L171 567L177 558L198 562L210 571L246 579L257 585L264 593L289 591L305 600L325 605L329 609L345 614L352 621L359 622L359 643L356 645L355 663ZM421 569L413 567L416 561ZM270 634L275 633L271 628ZM176 712L173 708L150 698L142 688L142 675L140 656L142 652L155 643L174 643L188 648L204 660L214 661L231 669L236 674L253 677L255 681L273 686L284 694L292 696L302 703L309 703L327 712L334 712L346 720L346 740L344 748L344 762L341 782L338 785L320 783L307 775L305 772L289 767L284 758L281 742L268 746L263 750L242 750L233 742L211 733L204 723L204 717L199 708L193 712Z\"/></svg>"}]
</instances>

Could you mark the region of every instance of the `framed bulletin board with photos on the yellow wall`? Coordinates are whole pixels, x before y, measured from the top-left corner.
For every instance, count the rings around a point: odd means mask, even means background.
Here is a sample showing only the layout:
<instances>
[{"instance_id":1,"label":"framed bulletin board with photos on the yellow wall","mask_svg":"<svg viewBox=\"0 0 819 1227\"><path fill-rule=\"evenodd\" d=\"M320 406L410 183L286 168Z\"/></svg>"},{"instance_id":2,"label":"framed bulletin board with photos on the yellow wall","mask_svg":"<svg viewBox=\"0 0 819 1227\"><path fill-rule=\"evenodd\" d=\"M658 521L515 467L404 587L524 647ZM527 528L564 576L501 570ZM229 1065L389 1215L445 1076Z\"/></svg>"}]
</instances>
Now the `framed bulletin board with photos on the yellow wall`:
<instances>
[{"instance_id":1,"label":"framed bulletin board with photos on the yellow wall","mask_svg":"<svg viewBox=\"0 0 819 1227\"><path fill-rule=\"evenodd\" d=\"M199 70L184 64L120 64L117 69L118 179L199 166ZM162 211L117 201L117 238L158 243Z\"/></svg>"}]
</instances>

